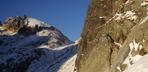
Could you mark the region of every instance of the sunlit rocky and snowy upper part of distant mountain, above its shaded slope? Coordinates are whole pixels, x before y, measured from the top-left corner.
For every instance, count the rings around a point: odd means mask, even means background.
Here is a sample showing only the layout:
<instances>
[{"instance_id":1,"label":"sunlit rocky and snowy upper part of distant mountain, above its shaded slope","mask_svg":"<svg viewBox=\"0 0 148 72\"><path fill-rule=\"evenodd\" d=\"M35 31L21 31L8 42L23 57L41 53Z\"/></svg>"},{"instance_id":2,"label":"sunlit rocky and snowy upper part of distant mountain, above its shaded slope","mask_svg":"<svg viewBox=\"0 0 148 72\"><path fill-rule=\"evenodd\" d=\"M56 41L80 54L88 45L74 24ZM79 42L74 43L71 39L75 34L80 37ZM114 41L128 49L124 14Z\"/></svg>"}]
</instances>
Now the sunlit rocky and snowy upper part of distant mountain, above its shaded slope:
<instances>
[{"instance_id":1,"label":"sunlit rocky and snowy upper part of distant mountain, above its shaded slope","mask_svg":"<svg viewBox=\"0 0 148 72\"><path fill-rule=\"evenodd\" d=\"M60 30L54 26L40 21L38 19L27 16L8 17L0 27L0 35L11 35L13 37L23 36L46 36L48 40L46 45L50 47L58 47L72 43ZM43 39L44 40L44 39Z\"/></svg>"}]
</instances>

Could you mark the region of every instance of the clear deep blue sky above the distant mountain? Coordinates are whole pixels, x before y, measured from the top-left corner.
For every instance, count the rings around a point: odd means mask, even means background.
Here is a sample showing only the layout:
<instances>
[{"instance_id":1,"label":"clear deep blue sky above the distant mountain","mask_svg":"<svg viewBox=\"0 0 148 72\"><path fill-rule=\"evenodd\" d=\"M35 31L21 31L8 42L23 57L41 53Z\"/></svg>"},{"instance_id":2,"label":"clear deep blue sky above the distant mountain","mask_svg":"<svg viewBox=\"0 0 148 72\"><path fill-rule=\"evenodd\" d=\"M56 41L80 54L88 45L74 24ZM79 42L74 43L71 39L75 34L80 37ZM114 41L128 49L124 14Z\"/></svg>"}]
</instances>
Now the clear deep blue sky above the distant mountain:
<instances>
[{"instance_id":1,"label":"clear deep blue sky above the distant mountain","mask_svg":"<svg viewBox=\"0 0 148 72\"><path fill-rule=\"evenodd\" d=\"M28 15L48 22L71 40L79 38L89 0L0 0L0 20Z\"/></svg>"}]
</instances>

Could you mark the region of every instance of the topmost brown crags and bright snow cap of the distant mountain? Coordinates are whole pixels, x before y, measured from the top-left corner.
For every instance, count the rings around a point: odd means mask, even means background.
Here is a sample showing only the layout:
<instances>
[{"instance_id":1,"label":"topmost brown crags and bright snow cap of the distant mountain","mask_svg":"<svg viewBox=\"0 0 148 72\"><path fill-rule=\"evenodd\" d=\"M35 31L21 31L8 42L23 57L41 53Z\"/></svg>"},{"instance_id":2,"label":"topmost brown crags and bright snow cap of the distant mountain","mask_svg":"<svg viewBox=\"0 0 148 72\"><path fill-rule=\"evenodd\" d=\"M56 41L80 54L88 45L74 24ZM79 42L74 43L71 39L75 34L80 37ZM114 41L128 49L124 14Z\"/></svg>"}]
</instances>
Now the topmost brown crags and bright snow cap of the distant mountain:
<instances>
[{"instance_id":1,"label":"topmost brown crags and bright snow cap of the distant mountain","mask_svg":"<svg viewBox=\"0 0 148 72\"><path fill-rule=\"evenodd\" d=\"M18 31L22 27L30 27L30 28L38 28L38 27L51 27L50 24L40 21L38 19L24 16L14 16L8 17L4 23L2 23L2 27L9 31Z\"/></svg>"}]
</instances>

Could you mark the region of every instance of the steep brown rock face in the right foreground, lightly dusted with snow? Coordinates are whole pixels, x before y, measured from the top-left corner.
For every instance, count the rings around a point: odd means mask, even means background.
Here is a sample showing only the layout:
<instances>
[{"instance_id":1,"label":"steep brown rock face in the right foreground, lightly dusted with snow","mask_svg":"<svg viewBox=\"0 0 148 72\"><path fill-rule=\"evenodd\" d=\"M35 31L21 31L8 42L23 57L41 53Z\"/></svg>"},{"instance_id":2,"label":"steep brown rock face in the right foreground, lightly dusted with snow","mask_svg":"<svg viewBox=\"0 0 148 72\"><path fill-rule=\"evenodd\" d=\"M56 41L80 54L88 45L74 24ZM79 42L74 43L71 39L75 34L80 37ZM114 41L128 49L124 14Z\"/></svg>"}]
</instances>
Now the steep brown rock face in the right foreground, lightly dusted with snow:
<instances>
[{"instance_id":1,"label":"steep brown rock face in the right foreground, lightly dusted with snow","mask_svg":"<svg viewBox=\"0 0 148 72\"><path fill-rule=\"evenodd\" d=\"M147 8L144 0L91 0L78 48L77 72L119 72L119 68L125 69L127 57L145 55Z\"/></svg>"}]
</instances>

